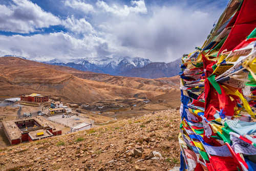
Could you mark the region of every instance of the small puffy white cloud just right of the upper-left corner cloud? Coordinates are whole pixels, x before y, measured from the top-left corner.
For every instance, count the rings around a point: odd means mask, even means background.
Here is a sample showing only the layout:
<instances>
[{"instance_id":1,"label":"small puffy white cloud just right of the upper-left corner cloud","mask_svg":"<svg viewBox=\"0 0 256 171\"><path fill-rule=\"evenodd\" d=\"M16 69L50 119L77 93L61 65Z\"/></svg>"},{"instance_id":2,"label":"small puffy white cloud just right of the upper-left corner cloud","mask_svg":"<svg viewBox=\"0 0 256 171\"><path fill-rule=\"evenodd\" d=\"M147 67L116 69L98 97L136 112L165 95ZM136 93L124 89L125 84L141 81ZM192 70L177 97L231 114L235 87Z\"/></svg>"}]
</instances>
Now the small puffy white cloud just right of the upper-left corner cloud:
<instances>
[{"instance_id":1,"label":"small puffy white cloud just right of the upper-left corner cloud","mask_svg":"<svg viewBox=\"0 0 256 171\"><path fill-rule=\"evenodd\" d=\"M74 15L68 17L66 20L63 20L62 25L75 33L95 33L95 30L93 29L92 25L89 22L87 22L86 19L76 19Z\"/></svg>"}]
</instances>

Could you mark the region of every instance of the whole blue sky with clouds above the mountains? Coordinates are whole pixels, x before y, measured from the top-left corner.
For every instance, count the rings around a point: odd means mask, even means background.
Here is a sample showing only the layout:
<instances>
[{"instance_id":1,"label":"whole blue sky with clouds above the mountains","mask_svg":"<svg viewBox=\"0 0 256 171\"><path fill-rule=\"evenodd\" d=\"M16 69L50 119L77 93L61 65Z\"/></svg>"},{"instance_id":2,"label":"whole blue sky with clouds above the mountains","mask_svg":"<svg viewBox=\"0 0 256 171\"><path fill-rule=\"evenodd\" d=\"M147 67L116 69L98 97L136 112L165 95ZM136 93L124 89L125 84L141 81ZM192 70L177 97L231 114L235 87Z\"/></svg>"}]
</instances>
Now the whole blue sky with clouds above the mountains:
<instances>
[{"instance_id":1,"label":"whole blue sky with clouds above the mountains","mask_svg":"<svg viewBox=\"0 0 256 171\"><path fill-rule=\"evenodd\" d=\"M1 0L0 56L143 57L202 46L228 0Z\"/></svg>"}]
</instances>

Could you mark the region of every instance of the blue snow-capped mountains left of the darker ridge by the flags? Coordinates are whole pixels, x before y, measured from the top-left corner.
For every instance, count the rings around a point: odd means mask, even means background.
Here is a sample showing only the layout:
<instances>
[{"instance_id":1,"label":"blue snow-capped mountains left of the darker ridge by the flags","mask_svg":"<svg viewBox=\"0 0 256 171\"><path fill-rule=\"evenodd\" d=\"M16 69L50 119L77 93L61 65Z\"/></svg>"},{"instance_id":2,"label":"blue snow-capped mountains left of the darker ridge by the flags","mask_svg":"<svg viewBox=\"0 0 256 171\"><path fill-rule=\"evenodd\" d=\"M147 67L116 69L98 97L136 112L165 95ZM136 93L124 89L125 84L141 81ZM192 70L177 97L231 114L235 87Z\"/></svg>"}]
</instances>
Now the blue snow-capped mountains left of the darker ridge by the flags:
<instances>
[{"instance_id":1,"label":"blue snow-capped mountains left of the darker ridge by the flags","mask_svg":"<svg viewBox=\"0 0 256 171\"><path fill-rule=\"evenodd\" d=\"M81 71L119 75L121 72L133 68L144 67L152 61L140 57L85 57L65 60L55 58L43 62L51 65L72 67Z\"/></svg>"}]
</instances>

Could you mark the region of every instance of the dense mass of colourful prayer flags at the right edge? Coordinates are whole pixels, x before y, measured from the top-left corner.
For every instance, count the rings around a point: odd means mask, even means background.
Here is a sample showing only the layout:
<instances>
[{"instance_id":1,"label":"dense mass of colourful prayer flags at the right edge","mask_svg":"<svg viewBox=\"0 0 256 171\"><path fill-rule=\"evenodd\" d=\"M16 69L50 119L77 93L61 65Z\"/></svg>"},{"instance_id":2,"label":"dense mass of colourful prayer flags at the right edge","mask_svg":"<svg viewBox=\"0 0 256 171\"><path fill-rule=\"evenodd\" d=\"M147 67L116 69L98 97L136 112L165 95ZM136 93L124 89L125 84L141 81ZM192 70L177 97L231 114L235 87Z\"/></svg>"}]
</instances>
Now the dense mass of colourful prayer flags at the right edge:
<instances>
[{"instance_id":1,"label":"dense mass of colourful prayer flags at the right edge","mask_svg":"<svg viewBox=\"0 0 256 171\"><path fill-rule=\"evenodd\" d=\"M230 1L182 58L180 170L256 170L256 3Z\"/></svg>"}]
</instances>

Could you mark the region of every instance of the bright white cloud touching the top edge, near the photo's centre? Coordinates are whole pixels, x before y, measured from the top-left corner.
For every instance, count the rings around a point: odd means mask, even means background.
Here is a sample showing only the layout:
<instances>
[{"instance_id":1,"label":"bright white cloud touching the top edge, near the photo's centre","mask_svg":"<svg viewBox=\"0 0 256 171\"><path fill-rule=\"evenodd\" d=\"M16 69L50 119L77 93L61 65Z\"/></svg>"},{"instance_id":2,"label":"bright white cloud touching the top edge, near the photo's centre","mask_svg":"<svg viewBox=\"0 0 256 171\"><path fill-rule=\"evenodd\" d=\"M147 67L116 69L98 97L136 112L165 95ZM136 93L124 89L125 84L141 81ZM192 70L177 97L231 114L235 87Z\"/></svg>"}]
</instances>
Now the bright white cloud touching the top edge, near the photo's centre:
<instances>
[{"instance_id":1,"label":"bright white cloud touching the top edge, near the photo's centre","mask_svg":"<svg viewBox=\"0 0 256 171\"><path fill-rule=\"evenodd\" d=\"M104 1L98 1L96 3L97 7L103 9L105 12L110 12L110 13L116 14L118 16L127 16L130 13L143 13L143 14L147 13L147 9L146 9L144 0L131 1L131 4L134 7L128 7L126 5L124 5L123 7L120 7L115 4L112 6L109 6Z\"/></svg>"}]
</instances>

